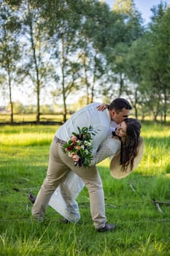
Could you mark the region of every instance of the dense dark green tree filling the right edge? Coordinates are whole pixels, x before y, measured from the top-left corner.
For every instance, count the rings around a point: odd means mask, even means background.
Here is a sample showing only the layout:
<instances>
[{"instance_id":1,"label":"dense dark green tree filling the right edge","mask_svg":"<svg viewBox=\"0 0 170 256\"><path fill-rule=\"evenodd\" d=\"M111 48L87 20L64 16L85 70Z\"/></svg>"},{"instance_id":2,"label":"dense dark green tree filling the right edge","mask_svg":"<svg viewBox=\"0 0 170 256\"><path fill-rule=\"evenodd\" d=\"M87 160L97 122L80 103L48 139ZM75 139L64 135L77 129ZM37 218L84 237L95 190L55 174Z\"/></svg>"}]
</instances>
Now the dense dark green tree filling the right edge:
<instances>
[{"instance_id":1,"label":"dense dark green tree filling the right edge","mask_svg":"<svg viewBox=\"0 0 170 256\"><path fill-rule=\"evenodd\" d=\"M141 61L141 89L154 120L157 121L158 114L163 113L166 121L170 95L170 11L166 5L159 4L152 8L152 12L150 30L144 39L145 58Z\"/></svg>"}]
</instances>

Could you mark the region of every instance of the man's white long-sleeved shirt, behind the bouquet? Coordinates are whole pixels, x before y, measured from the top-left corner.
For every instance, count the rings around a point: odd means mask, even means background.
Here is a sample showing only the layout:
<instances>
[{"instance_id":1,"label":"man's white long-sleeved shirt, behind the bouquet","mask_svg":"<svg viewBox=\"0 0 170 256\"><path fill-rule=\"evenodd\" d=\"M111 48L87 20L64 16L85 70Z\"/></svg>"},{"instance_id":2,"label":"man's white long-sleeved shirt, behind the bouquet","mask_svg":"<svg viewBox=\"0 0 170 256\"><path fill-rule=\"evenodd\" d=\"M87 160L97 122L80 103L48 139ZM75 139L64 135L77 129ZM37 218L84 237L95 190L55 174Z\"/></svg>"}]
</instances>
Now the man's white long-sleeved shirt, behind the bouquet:
<instances>
[{"instance_id":1,"label":"man's white long-sleeved shirt, behind the bouquet","mask_svg":"<svg viewBox=\"0 0 170 256\"><path fill-rule=\"evenodd\" d=\"M111 118L109 110L98 111L97 106L100 103L91 103L85 108L74 113L66 123L64 123L55 133L57 138L67 141L70 139L72 132L78 133L77 127L89 127L94 129L92 146L93 154L96 153L101 142L108 137Z\"/></svg>"}]
</instances>

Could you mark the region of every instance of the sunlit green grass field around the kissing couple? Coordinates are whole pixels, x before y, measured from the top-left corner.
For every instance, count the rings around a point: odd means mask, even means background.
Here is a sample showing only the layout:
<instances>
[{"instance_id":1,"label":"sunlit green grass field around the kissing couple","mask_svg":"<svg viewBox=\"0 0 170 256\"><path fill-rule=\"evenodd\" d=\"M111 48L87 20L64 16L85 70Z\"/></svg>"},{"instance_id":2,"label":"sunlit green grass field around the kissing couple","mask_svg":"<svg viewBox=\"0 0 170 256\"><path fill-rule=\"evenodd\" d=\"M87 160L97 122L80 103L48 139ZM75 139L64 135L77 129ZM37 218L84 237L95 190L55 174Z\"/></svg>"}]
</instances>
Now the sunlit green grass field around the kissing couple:
<instances>
[{"instance_id":1,"label":"sunlit green grass field around the kissing couple","mask_svg":"<svg viewBox=\"0 0 170 256\"><path fill-rule=\"evenodd\" d=\"M45 222L31 221L28 193L35 195L45 178L56 126L4 126L0 130L0 255L170 255L170 129L144 124L144 157L122 180L109 174L109 159L98 164L113 233L97 233L90 217L87 189L78 197L77 225L58 222L48 207Z\"/></svg>"}]
</instances>

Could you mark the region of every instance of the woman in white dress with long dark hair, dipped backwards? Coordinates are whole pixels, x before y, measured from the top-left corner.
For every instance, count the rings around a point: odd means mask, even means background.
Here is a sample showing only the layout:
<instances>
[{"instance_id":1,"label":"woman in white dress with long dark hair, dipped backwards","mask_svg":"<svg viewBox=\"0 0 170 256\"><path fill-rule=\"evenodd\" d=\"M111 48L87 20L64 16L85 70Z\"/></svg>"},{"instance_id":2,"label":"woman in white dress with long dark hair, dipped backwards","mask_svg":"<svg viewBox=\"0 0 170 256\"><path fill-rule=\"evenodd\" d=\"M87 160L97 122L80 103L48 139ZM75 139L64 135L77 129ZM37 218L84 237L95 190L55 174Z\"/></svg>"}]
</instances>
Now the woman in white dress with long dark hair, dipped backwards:
<instances>
[{"instance_id":1,"label":"woman in white dress with long dark hair, dipped backwards","mask_svg":"<svg viewBox=\"0 0 170 256\"><path fill-rule=\"evenodd\" d=\"M101 143L96 155L93 156L91 165L95 165L107 157L113 157L120 151L122 171L125 172L129 166L132 170L140 141L140 129L141 124L138 120L126 118L118 124L115 132L112 132L112 136ZM49 205L64 217L61 222L79 221L80 212L75 199L83 187L82 179L71 171L53 193Z\"/></svg>"}]
</instances>

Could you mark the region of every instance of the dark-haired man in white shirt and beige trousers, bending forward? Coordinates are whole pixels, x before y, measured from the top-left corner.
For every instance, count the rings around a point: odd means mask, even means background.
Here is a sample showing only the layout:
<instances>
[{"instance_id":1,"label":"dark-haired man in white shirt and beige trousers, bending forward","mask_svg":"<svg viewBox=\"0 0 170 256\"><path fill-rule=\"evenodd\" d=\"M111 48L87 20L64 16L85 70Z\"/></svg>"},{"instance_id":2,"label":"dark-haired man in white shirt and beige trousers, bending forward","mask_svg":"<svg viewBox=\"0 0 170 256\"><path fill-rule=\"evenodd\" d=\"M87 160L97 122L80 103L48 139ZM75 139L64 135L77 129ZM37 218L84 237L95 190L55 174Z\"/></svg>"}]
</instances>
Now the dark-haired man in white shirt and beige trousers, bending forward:
<instances>
[{"instance_id":1,"label":"dark-haired man in white shirt and beige trousers, bending forward","mask_svg":"<svg viewBox=\"0 0 170 256\"><path fill-rule=\"evenodd\" d=\"M104 191L101 177L99 176L96 165L88 168L74 165L72 158L63 153L62 146L69 140L72 132L78 133L77 127L89 127L98 130L93 136L93 154L96 153L101 142L107 138L111 121L117 124L127 118L131 112L131 105L122 98L114 99L108 109L100 112L96 109L98 103L91 103L74 113L65 124L55 133L55 138L50 146L50 159L47 169L47 176L36 197L32 208L32 215L40 222L45 216L45 210L50 197L62 179L73 170L82 178L88 188L90 197L90 212L93 224L98 232L112 231L115 225L109 225L105 216Z\"/></svg>"}]
</instances>

